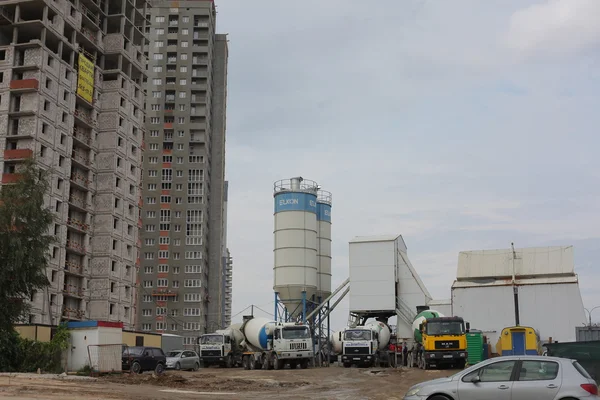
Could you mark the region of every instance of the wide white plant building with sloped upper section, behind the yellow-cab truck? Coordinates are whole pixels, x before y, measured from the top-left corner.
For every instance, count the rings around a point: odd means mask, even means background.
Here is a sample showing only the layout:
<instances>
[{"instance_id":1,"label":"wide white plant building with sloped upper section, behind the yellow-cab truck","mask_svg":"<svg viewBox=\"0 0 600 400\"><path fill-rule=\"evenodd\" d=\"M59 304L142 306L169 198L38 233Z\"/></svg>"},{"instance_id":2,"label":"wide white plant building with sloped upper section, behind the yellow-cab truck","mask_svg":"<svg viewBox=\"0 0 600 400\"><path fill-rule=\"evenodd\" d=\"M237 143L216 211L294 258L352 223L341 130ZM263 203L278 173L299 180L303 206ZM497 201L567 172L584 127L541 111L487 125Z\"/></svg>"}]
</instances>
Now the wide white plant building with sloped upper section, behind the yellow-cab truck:
<instances>
[{"instance_id":1,"label":"wide white plant building with sloped upper section, behind the yellow-cab truck","mask_svg":"<svg viewBox=\"0 0 600 400\"><path fill-rule=\"evenodd\" d=\"M515 325L515 286L519 325L537 330L542 341L576 340L575 327L586 319L572 246L459 253L452 315L495 346L502 329Z\"/></svg>"}]
</instances>

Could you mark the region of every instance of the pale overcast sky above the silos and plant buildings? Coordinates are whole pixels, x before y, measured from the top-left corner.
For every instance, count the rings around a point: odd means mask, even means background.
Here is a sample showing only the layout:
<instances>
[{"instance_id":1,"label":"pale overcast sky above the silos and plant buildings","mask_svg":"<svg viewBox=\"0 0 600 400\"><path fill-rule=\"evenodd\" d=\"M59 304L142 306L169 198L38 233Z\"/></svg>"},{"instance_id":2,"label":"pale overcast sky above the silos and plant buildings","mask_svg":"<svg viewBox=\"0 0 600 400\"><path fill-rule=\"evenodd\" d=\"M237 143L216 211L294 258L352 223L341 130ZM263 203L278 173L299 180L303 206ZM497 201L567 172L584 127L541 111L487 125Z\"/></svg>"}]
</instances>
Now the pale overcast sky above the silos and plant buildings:
<instances>
[{"instance_id":1,"label":"pale overcast sky above the silos and plant buildings","mask_svg":"<svg viewBox=\"0 0 600 400\"><path fill-rule=\"evenodd\" d=\"M273 312L273 181L298 175L333 192L334 288L351 238L400 233L434 298L450 298L459 251L515 242L574 245L600 306L600 1L217 9L234 314Z\"/></svg>"}]
</instances>

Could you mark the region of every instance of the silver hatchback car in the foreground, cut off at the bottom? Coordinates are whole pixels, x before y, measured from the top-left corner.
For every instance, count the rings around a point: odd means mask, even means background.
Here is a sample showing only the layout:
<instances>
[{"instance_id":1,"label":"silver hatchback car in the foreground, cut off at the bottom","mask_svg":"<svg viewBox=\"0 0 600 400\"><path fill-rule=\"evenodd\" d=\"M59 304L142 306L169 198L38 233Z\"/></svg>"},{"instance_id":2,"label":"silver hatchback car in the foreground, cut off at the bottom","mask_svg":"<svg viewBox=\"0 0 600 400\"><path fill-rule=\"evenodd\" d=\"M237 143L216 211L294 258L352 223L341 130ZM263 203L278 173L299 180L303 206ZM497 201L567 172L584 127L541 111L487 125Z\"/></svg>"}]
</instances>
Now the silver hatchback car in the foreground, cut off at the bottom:
<instances>
[{"instance_id":1,"label":"silver hatchback car in the foreground, cut off at the bottom","mask_svg":"<svg viewBox=\"0 0 600 400\"><path fill-rule=\"evenodd\" d=\"M506 356L411 387L404 400L562 400L596 397L598 386L575 360Z\"/></svg>"}]
</instances>

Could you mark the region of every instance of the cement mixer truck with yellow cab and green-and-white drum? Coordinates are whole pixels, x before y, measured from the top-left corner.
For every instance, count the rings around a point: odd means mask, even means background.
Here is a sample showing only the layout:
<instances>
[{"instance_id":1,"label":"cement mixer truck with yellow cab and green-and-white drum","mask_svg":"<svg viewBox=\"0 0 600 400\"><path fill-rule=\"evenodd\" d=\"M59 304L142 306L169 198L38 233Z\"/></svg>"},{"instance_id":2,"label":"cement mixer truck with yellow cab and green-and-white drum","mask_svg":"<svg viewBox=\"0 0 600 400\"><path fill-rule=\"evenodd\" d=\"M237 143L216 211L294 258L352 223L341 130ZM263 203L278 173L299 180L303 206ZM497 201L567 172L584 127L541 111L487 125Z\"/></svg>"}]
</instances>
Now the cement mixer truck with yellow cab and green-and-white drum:
<instances>
[{"instance_id":1,"label":"cement mixer truck with yellow cab and green-and-white drum","mask_svg":"<svg viewBox=\"0 0 600 400\"><path fill-rule=\"evenodd\" d=\"M417 314L412 328L415 342L420 345L416 355L419 368L465 367L468 322L465 324L461 317L445 317L439 311L425 310Z\"/></svg>"}]
</instances>

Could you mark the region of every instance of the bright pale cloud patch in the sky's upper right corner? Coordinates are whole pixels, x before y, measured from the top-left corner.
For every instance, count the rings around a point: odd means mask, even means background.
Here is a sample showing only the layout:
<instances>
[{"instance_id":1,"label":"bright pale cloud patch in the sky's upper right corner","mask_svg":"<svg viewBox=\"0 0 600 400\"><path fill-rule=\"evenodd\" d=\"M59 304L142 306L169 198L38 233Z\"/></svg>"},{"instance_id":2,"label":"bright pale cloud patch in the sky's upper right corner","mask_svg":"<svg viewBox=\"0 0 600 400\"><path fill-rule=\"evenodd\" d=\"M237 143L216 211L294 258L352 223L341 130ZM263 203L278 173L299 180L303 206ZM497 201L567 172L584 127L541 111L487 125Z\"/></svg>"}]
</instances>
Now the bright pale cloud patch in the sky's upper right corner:
<instances>
[{"instance_id":1,"label":"bright pale cloud patch in the sky's upper right corner","mask_svg":"<svg viewBox=\"0 0 600 400\"><path fill-rule=\"evenodd\" d=\"M508 45L521 53L559 56L600 44L600 2L550 0L516 11Z\"/></svg>"}]
</instances>

